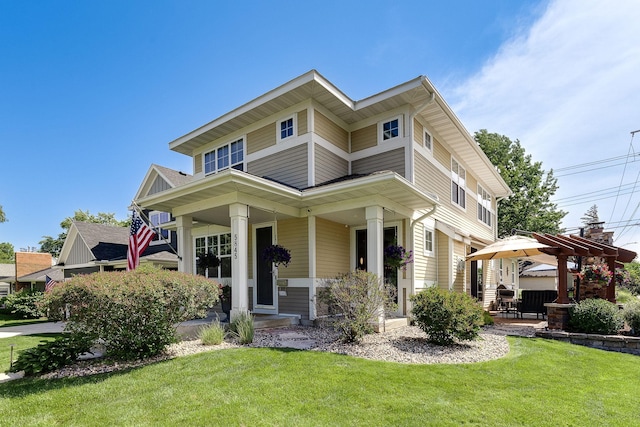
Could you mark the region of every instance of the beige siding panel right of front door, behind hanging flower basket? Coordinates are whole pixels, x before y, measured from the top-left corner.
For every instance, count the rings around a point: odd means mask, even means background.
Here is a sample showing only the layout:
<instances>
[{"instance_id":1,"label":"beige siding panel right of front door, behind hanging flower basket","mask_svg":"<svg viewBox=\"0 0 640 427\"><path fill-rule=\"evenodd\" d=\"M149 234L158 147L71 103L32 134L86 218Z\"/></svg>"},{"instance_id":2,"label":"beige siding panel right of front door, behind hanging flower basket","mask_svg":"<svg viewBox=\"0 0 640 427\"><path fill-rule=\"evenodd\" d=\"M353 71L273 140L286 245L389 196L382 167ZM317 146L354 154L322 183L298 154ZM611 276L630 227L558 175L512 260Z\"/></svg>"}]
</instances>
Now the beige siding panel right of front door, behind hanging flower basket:
<instances>
[{"instance_id":1,"label":"beige siding panel right of front door, behind hanging flower basket","mask_svg":"<svg viewBox=\"0 0 640 427\"><path fill-rule=\"evenodd\" d=\"M278 244L291 251L291 263L278 269L282 279L309 277L309 226L307 218L278 221Z\"/></svg>"}]
</instances>

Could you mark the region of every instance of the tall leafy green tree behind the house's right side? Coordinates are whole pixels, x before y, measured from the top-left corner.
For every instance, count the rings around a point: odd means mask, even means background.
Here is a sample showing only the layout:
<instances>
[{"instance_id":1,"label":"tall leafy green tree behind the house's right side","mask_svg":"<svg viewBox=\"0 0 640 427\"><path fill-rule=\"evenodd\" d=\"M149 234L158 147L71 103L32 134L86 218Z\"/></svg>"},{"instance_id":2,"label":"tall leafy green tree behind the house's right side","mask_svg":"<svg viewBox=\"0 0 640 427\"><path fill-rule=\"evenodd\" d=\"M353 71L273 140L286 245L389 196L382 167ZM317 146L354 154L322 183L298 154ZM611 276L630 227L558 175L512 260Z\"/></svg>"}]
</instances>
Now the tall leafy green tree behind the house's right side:
<instances>
[{"instance_id":1,"label":"tall leafy green tree behind the house's right side","mask_svg":"<svg viewBox=\"0 0 640 427\"><path fill-rule=\"evenodd\" d=\"M567 212L550 201L558 189L553 170L545 172L541 162L532 162L518 140L486 129L476 132L475 140L513 191L498 207L498 237L512 234L513 229L560 232L560 222Z\"/></svg>"}]
</instances>

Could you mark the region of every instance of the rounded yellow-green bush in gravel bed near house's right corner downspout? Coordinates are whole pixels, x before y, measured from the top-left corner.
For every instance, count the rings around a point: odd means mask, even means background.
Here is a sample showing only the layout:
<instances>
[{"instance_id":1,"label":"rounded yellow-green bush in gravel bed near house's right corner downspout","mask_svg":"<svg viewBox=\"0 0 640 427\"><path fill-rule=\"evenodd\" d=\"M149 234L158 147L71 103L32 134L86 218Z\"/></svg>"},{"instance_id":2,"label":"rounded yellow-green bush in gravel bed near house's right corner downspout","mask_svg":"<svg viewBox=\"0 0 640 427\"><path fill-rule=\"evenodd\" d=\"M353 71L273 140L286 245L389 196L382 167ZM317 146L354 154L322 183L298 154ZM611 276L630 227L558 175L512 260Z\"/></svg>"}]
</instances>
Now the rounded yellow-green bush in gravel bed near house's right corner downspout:
<instances>
[{"instance_id":1,"label":"rounded yellow-green bush in gravel bed near house's right corner downspout","mask_svg":"<svg viewBox=\"0 0 640 427\"><path fill-rule=\"evenodd\" d=\"M451 345L454 338L478 337L483 310L473 297L431 287L412 295L411 302L413 317L430 342Z\"/></svg>"}]
</instances>

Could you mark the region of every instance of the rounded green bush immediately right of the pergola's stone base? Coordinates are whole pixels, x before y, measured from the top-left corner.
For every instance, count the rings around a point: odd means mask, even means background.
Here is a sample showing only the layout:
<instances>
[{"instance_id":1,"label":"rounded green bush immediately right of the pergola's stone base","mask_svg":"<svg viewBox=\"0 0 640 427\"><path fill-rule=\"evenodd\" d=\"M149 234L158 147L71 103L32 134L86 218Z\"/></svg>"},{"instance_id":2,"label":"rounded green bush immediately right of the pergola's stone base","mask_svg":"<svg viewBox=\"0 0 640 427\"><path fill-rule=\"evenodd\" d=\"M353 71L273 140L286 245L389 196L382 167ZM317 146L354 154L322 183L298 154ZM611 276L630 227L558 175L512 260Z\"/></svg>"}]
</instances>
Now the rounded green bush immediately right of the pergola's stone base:
<instances>
[{"instance_id":1,"label":"rounded green bush immediately right of the pergola's stone base","mask_svg":"<svg viewBox=\"0 0 640 427\"><path fill-rule=\"evenodd\" d=\"M586 299L569 310L569 326L575 332L617 334L623 325L618 306L605 299Z\"/></svg>"}]
</instances>

